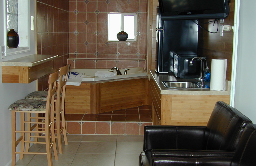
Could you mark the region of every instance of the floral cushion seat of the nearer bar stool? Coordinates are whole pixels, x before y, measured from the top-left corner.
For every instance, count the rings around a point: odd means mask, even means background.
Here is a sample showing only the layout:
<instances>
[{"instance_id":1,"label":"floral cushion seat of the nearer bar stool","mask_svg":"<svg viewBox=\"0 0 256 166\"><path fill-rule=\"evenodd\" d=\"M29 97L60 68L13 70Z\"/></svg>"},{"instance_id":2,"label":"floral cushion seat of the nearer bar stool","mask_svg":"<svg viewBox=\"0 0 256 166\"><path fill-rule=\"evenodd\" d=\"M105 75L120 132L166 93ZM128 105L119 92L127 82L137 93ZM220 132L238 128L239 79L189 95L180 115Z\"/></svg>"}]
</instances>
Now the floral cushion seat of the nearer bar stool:
<instances>
[{"instance_id":1,"label":"floral cushion seat of the nearer bar stool","mask_svg":"<svg viewBox=\"0 0 256 166\"><path fill-rule=\"evenodd\" d=\"M12 103L8 109L10 111L45 111L46 101L21 99Z\"/></svg>"}]
</instances>

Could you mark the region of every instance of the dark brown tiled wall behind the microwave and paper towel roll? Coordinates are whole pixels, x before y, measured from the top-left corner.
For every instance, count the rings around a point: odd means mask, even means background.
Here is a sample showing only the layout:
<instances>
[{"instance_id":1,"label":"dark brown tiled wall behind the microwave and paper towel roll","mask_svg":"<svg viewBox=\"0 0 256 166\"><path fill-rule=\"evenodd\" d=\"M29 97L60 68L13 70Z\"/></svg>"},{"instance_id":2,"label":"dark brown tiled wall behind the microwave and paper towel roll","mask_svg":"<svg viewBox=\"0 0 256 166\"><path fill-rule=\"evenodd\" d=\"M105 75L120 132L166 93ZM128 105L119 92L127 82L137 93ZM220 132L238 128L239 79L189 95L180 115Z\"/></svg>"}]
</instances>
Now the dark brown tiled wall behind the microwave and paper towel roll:
<instances>
[{"instance_id":1,"label":"dark brown tiled wall behind the microwave and paper towel roll","mask_svg":"<svg viewBox=\"0 0 256 166\"><path fill-rule=\"evenodd\" d=\"M200 57L206 57L207 66L209 66L211 71L212 59L227 59L227 74L226 79L231 80L232 71L232 53L233 53L233 30L224 31L223 37L220 36L220 25L234 25L234 11L235 11L235 1L231 1L230 12L227 19L224 19L224 24L219 24L218 33L212 34L202 28L199 28L198 33L198 55ZM209 20L202 20L207 22ZM211 32L217 31L217 23L213 26L211 24L202 25L204 28Z\"/></svg>"}]
</instances>

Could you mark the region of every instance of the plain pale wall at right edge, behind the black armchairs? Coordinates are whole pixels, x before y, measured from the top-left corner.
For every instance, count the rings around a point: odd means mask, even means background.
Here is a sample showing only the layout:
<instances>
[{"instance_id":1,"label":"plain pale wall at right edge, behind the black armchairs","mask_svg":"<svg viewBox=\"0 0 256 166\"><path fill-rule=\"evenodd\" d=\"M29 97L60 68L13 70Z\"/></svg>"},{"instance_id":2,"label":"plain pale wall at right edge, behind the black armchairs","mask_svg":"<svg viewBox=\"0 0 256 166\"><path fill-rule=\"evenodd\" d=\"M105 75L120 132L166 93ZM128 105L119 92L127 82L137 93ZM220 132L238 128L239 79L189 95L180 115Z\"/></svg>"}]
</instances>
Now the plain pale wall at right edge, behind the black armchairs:
<instances>
[{"instance_id":1,"label":"plain pale wall at right edge, behind the black armchairs","mask_svg":"<svg viewBox=\"0 0 256 166\"><path fill-rule=\"evenodd\" d=\"M256 123L256 1L240 1L234 107Z\"/></svg>"}]
</instances>

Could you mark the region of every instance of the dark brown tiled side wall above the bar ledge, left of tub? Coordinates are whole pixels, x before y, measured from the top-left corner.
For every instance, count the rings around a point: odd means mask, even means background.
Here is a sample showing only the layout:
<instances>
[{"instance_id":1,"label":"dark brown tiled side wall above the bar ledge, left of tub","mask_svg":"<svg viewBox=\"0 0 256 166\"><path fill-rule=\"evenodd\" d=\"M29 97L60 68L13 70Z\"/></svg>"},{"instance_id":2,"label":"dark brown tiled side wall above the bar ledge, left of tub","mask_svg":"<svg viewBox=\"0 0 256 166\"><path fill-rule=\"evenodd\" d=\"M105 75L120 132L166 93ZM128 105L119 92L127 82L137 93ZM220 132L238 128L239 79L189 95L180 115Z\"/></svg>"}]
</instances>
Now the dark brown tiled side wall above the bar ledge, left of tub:
<instances>
[{"instance_id":1,"label":"dark brown tiled side wall above the bar ledge, left of tub","mask_svg":"<svg viewBox=\"0 0 256 166\"><path fill-rule=\"evenodd\" d=\"M54 68L67 64L68 0L37 0L37 54L59 55ZM38 90L48 87L48 76L38 79Z\"/></svg>"}]
</instances>

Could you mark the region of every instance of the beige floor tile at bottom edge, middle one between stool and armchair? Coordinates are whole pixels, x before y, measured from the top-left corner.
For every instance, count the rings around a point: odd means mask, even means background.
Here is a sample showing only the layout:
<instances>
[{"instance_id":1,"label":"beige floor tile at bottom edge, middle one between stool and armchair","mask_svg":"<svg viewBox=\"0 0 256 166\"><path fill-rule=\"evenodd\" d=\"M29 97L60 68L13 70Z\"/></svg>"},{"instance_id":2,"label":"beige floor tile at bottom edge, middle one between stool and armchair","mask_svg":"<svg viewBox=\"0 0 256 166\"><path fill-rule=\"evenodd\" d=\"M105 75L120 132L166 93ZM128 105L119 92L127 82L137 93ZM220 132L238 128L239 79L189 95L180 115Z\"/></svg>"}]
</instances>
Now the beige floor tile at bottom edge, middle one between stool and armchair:
<instances>
[{"instance_id":1,"label":"beige floor tile at bottom edge, middle one between stool and armchair","mask_svg":"<svg viewBox=\"0 0 256 166\"><path fill-rule=\"evenodd\" d=\"M77 153L71 166L114 166L115 154Z\"/></svg>"}]
</instances>

